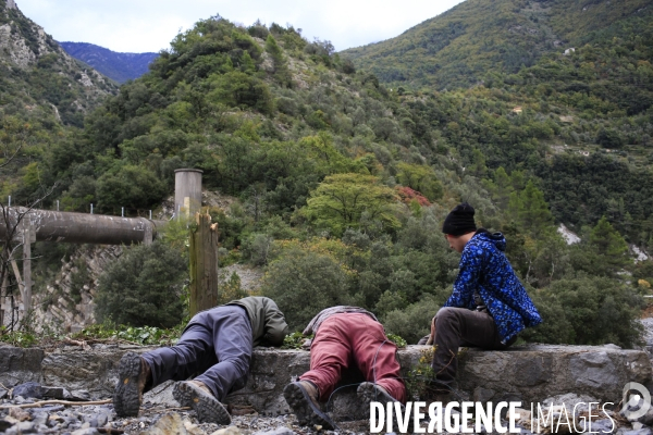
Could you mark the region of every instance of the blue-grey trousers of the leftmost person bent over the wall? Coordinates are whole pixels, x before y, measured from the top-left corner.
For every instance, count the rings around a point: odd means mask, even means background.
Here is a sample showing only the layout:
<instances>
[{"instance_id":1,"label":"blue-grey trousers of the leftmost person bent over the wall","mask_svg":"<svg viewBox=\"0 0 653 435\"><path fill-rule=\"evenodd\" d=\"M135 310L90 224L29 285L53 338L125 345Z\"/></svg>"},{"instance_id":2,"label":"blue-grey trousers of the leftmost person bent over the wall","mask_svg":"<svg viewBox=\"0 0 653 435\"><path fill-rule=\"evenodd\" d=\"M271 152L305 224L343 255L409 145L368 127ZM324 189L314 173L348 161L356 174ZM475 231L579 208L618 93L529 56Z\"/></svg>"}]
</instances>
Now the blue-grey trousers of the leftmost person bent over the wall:
<instances>
[{"instance_id":1,"label":"blue-grey trousers of the leftmost person bent over the wall","mask_svg":"<svg viewBox=\"0 0 653 435\"><path fill-rule=\"evenodd\" d=\"M195 377L218 400L247 383L251 360L251 323L247 311L221 306L197 313L172 347L143 355L152 373L152 387L165 381Z\"/></svg>"}]
</instances>

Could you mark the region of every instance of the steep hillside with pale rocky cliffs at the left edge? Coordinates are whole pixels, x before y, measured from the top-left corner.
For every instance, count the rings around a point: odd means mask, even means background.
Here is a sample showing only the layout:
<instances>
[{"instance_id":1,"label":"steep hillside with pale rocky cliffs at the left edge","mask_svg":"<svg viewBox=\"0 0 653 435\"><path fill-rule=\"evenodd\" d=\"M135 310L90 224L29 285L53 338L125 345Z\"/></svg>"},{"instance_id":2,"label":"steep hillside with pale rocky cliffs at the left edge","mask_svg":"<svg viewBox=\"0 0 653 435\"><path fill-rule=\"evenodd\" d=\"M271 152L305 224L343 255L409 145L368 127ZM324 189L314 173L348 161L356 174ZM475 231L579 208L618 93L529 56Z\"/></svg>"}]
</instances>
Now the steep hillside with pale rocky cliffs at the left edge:
<instances>
[{"instance_id":1,"label":"steep hillside with pale rocky cliffs at the left edge","mask_svg":"<svg viewBox=\"0 0 653 435\"><path fill-rule=\"evenodd\" d=\"M41 27L0 1L1 197L24 200L47 190L41 161L50 147L69 140L84 116L116 87L69 57ZM2 200L4 202L4 199Z\"/></svg>"}]
</instances>

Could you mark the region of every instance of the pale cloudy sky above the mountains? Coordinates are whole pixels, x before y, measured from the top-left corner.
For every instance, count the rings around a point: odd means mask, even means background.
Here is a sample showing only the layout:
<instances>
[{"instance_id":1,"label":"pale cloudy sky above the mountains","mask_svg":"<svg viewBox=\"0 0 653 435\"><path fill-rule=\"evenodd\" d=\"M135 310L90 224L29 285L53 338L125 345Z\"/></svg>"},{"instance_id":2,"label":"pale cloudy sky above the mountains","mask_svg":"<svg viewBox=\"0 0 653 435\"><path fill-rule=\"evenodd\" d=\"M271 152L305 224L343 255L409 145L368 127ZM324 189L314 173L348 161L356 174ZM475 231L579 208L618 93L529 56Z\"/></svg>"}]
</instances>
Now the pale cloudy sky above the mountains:
<instances>
[{"instance_id":1,"label":"pale cloudy sky above the mountains","mask_svg":"<svg viewBox=\"0 0 653 435\"><path fill-rule=\"evenodd\" d=\"M4 0L0 0L4 1ZM336 50L392 38L461 0L16 0L59 41L91 42L121 52L159 51L181 30L220 14L250 25L292 24Z\"/></svg>"}]
</instances>

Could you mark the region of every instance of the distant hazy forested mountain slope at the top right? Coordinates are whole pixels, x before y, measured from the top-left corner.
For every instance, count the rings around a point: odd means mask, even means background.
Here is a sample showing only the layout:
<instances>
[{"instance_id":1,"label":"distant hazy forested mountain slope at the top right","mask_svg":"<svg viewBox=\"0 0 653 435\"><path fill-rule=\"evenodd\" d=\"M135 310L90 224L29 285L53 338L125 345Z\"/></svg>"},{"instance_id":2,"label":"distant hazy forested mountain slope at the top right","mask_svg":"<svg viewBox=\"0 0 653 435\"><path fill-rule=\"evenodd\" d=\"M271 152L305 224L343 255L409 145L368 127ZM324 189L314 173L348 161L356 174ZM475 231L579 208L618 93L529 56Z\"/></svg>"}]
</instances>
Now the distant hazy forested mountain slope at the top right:
<instances>
[{"instance_id":1,"label":"distant hazy forested mountain slope at the top right","mask_svg":"<svg viewBox=\"0 0 653 435\"><path fill-rule=\"evenodd\" d=\"M467 0L402 35L342 52L385 84L434 90L517 73L547 53L594 38L597 28L650 22L651 0Z\"/></svg>"}]
</instances>

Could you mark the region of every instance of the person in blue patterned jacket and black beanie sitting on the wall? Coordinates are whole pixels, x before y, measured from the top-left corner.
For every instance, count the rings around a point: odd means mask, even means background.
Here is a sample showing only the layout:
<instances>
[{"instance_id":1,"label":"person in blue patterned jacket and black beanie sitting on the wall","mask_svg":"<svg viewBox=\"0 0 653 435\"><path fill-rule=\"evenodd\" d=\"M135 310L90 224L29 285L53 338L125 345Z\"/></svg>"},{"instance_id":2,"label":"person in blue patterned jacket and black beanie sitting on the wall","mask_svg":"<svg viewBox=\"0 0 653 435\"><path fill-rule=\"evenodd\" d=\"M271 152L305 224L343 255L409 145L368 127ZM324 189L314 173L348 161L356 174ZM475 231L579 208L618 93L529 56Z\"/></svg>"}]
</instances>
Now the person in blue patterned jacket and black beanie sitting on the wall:
<instances>
[{"instance_id":1,"label":"person in blue patterned jacket and black beanie sitting on the wall","mask_svg":"<svg viewBox=\"0 0 653 435\"><path fill-rule=\"evenodd\" d=\"M542 322L504 253L505 237L477 229L473 215L473 208L461 203L442 227L449 247L463 254L452 296L433 319L428 339L436 346L432 368L442 393L455 388L459 346L506 349L519 332Z\"/></svg>"}]
</instances>

